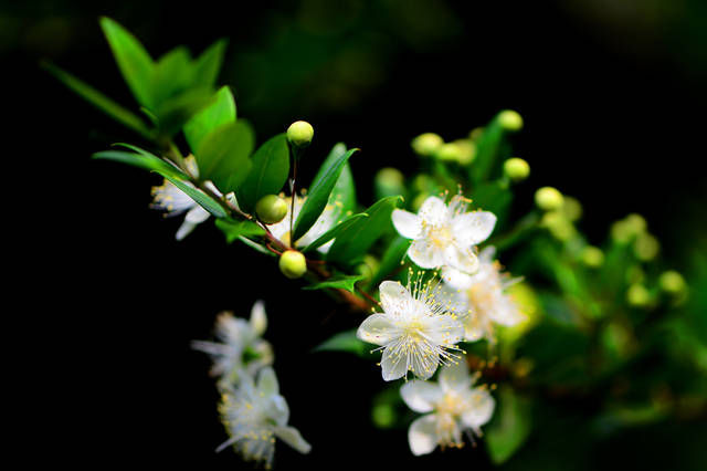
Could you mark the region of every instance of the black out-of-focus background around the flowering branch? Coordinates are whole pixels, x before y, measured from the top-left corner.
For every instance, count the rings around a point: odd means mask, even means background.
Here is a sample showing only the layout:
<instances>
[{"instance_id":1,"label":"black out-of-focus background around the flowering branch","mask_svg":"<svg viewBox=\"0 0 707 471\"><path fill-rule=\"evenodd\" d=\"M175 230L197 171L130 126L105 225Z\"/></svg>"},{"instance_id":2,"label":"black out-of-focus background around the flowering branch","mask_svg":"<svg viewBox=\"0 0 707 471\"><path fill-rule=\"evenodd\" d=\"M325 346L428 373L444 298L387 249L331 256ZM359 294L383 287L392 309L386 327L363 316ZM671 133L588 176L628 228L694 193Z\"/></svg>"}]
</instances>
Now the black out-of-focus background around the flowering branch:
<instances>
[{"instance_id":1,"label":"black out-of-focus background around the flowering branch","mask_svg":"<svg viewBox=\"0 0 707 471\"><path fill-rule=\"evenodd\" d=\"M415 135L463 137L498 109L514 108L526 123L515 149L532 167L521 192L552 185L579 198L593 243L611 221L637 211L671 265L689 270L692 254L706 244L704 2L0 6L9 109L17 105L8 140L18 144L9 154L20 165L11 167L11 180L29 196L12 210L22 217L20 239L33 243L17 249L29 255L17 278L32 287L23 296L29 325L21 337L52 341L39 376L61 412L52 420L54 430L61 426L59 441L67 439L61 456L75 463L242 468L232 451L213 453L226 438L218 395L209 362L189 341L210 338L221 310L247 316L264 299L265 336L275 345L291 423L314 446L303 458L279 443L281 469L487 464L483 448L413 459L405 430L370 422L371 397L383 386L373 363L309 353L330 333L358 325L357 314L284 282L272 260L226 247L210 224L177 243L179 221L148 209L154 176L88 158L114 142L141 143L38 62L51 59L135 107L98 15L123 23L154 56L178 44L197 53L229 38L221 82L234 88L239 116L251 119L258 142L309 121L316 134L305 181L335 143L360 147L352 169L363 205L371 202L376 169L413 171ZM527 448L555 440L549 452L557 452L564 446L558 437L537 427ZM644 439L627 436L568 457L564 469L574 469L578 457L590 469L679 462L674 443L646 448Z\"/></svg>"}]
</instances>

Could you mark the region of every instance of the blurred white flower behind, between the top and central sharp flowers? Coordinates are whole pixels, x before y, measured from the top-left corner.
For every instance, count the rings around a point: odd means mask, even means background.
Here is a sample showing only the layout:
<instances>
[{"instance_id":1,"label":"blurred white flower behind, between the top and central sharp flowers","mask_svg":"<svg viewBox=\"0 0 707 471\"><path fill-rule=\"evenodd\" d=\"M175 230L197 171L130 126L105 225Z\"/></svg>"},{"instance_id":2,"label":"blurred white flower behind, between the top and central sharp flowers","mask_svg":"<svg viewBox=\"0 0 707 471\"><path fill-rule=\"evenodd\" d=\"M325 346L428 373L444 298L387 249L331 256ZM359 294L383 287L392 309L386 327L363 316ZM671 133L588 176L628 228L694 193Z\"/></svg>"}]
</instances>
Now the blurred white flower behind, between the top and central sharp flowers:
<instances>
[{"instance_id":1,"label":"blurred white flower behind, between the top and central sharp flowers","mask_svg":"<svg viewBox=\"0 0 707 471\"><path fill-rule=\"evenodd\" d=\"M444 291L458 312L469 314L464 317L464 338L469 342L486 338L493 343L494 324L511 326L525 320L513 297L504 292L518 279L509 280L500 273L499 263L494 261L495 252L493 247L481 252L479 268L473 275L450 268L442 270Z\"/></svg>"}]
</instances>

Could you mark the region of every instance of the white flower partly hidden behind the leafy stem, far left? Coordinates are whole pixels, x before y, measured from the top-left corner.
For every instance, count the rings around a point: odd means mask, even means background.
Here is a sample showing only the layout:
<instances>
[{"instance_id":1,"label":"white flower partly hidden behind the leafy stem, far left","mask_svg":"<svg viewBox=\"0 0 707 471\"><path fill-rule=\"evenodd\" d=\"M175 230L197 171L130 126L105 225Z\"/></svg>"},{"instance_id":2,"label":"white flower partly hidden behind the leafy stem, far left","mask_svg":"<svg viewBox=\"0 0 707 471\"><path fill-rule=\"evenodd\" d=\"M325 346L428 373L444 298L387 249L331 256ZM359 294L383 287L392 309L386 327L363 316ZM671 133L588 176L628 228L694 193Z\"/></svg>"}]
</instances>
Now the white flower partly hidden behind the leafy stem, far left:
<instances>
[{"instance_id":1,"label":"white flower partly hidden behind the leafy stem, far left","mask_svg":"<svg viewBox=\"0 0 707 471\"><path fill-rule=\"evenodd\" d=\"M193 156L184 158L184 164L191 175L194 177L199 176L199 168L197 167L197 160ZM209 211L199 206L199 203L191 199L191 197L167 179L165 179L165 182L161 186L152 187L151 192L154 198L151 208L167 211L166 216L178 216L187 211L184 222L182 222L175 236L177 240L182 240L194 230L197 224L209 219Z\"/></svg>"}]
</instances>

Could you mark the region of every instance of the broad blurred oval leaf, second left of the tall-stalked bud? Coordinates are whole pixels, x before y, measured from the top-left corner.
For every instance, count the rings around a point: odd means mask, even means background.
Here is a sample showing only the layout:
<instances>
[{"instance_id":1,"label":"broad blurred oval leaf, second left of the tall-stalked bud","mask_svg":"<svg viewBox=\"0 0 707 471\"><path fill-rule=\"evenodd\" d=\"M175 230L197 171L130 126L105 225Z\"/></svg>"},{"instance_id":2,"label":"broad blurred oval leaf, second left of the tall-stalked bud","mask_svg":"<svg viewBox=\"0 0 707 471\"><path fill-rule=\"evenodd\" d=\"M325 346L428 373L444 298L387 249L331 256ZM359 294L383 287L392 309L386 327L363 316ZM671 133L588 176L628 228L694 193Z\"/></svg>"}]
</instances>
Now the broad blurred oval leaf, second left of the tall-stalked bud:
<instances>
[{"instance_id":1,"label":"broad blurred oval leaf, second left of the tall-stalked bud","mask_svg":"<svg viewBox=\"0 0 707 471\"><path fill-rule=\"evenodd\" d=\"M247 177L254 145L253 129L244 121L229 123L209 134L196 153L201 178L228 193Z\"/></svg>"}]
</instances>

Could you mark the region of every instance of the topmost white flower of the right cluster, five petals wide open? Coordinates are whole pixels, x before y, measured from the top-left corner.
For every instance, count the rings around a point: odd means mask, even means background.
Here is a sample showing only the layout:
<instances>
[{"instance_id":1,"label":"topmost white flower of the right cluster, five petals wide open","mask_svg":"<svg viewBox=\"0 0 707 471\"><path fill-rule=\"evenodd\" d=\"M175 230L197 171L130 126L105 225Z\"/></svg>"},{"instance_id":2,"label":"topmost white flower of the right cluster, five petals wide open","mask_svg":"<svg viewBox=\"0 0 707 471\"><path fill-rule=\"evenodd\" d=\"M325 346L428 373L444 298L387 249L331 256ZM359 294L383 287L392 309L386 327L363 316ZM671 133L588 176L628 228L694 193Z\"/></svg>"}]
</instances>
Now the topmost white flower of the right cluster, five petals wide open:
<instances>
[{"instance_id":1,"label":"topmost white flower of the right cluster, five petals wide open","mask_svg":"<svg viewBox=\"0 0 707 471\"><path fill-rule=\"evenodd\" d=\"M478 261L473 245L490 236L496 216L487 211L466 212L468 200L454 196L450 205L437 197L428 198L418 214L395 209L393 226L398 232L413 239L408 257L423 269L453 266L474 273Z\"/></svg>"}]
</instances>

